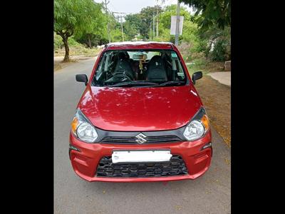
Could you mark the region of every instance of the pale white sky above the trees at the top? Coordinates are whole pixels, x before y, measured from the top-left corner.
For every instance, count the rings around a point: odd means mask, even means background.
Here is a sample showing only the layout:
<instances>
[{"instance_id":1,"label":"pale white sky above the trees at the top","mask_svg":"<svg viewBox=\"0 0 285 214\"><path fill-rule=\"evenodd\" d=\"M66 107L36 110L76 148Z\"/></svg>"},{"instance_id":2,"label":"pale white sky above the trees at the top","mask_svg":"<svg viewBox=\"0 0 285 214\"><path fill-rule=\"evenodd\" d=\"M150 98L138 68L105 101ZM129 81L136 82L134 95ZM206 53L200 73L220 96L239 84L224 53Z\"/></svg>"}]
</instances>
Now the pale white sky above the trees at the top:
<instances>
[{"instance_id":1,"label":"pale white sky above the trees at the top","mask_svg":"<svg viewBox=\"0 0 285 214\"><path fill-rule=\"evenodd\" d=\"M105 0L94 0L95 2L101 3L105 2ZM162 4L161 0L107 0L108 9L113 12L121 12L127 14L136 14L140 12L140 10L147 6L167 6L170 4L177 4L177 0L165 0L165 3ZM180 6L185 6L185 4L180 4ZM189 6L185 6L188 11L191 11Z\"/></svg>"}]
</instances>

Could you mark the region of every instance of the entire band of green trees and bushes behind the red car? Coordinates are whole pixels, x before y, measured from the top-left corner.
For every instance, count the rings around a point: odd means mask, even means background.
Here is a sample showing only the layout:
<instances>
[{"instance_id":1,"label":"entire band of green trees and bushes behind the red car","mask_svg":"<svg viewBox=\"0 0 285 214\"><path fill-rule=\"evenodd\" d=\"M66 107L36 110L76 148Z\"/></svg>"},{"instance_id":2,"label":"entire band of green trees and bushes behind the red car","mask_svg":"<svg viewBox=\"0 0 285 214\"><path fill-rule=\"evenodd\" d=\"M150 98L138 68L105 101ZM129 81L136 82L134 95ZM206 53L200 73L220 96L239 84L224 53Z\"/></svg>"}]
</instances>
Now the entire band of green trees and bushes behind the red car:
<instances>
[{"instance_id":1,"label":"entire band of green trees and bushes behind the red car","mask_svg":"<svg viewBox=\"0 0 285 214\"><path fill-rule=\"evenodd\" d=\"M162 0L163 1L163 0ZM224 61L230 54L230 0L182 0L192 6L196 14L192 16L185 7L180 7L184 16L182 35L178 48L186 61L200 58L211 61ZM123 22L124 40L133 39L175 42L170 35L171 16L176 16L177 5L162 9L161 6L147 6L138 14L128 14ZM54 49L62 49L63 41L68 39L71 46L84 44L93 46L108 43L107 17L103 4L93 0L55 0L54 1ZM150 33L155 16L155 35ZM159 36L156 36L156 21L159 21ZM123 41L118 19L108 13L111 41ZM60 36L58 36L60 35ZM211 47L214 49L211 50Z\"/></svg>"}]
</instances>

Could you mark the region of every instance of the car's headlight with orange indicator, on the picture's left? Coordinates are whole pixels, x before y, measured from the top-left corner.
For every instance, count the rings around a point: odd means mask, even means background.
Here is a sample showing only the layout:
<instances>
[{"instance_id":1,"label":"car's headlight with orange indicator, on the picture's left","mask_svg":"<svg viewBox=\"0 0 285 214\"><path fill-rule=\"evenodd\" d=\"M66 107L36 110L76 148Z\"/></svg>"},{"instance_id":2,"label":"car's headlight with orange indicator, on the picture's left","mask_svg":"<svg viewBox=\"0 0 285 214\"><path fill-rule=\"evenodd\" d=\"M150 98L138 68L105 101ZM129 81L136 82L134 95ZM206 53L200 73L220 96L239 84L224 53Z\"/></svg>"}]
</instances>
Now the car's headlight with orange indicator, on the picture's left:
<instances>
[{"instance_id":1,"label":"car's headlight with orange indicator, on the picture's left","mask_svg":"<svg viewBox=\"0 0 285 214\"><path fill-rule=\"evenodd\" d=\"M94 126L88 121L79 108L71 123L71 131L77 138L86 143L93 143L98 138L98 133Z\"/></svg>"}]
</instances>

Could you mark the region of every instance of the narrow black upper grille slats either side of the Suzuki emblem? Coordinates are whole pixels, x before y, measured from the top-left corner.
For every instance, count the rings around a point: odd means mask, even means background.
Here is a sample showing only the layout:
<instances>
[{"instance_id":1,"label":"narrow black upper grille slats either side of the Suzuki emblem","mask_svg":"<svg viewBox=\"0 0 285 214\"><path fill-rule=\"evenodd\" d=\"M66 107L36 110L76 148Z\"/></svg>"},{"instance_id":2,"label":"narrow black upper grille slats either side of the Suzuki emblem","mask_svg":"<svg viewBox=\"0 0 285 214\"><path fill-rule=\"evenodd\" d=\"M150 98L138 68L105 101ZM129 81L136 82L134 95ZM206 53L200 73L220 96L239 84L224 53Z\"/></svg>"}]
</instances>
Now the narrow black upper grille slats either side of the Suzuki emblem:
<instances>
[{"instance_id":1,"label":"narrow black upper grille slats either side of the Suzuki emblem","mask_svg":"<svg viewBox=\"0 0 285 214\"><path fill-rule=\"evenodd\" d=\"M135 140L135 137L116 137L116 136L108 136L103 138L101 143L115 143L115 144L138 144ZM175 143L182 141L177 136L147 136L146 142L147 143Z\"/></svg>"}]
</instances>

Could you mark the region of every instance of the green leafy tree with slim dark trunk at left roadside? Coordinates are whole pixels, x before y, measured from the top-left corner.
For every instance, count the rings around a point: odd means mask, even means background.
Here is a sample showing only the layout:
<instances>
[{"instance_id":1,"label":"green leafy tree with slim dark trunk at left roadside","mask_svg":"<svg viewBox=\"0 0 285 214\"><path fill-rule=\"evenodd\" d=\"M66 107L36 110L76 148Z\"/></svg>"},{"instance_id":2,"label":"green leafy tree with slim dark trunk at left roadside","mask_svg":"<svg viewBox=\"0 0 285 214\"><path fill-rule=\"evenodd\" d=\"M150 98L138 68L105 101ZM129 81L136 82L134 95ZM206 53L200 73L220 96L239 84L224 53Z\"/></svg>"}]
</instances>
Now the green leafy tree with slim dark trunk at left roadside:
<instances>
[{"instance_id":1,"label":"green leafy tree with slim dark trunk at left roadside","mask_svg":"<svg viewBox=\"0 0 285 214\"><path fill-rule=\"evenodd\" d=\"M92 0L55 0L53 31L61 36L66 50L63 61L69 61L68 38L94 28L100 4Z\"/></svg>"}]
</instances>

